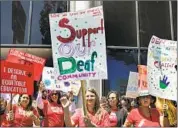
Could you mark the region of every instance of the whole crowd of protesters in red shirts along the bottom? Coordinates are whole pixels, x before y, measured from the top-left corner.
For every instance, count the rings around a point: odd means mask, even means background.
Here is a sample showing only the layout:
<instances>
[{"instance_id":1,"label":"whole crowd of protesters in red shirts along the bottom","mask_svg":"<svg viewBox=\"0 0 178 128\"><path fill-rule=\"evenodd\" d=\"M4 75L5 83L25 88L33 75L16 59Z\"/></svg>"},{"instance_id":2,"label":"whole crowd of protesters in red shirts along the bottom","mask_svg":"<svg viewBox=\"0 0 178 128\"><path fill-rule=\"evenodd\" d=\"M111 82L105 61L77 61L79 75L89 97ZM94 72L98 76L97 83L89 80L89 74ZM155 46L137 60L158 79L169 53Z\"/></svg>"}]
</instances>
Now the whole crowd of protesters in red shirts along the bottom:
<instances>
[{"instance_id":1,"label":"whole crowd of protesters in red shirts along the bottom","mask_svg":"<svg viewBox=\"0 0 178 128\"><path fill-rule=\"evenodd\" d=\"M99 98L97 92L89 88L85 93L86 115L83 108L76 108L72 92L63 93L45 90L43 82L39 84L36 106L32 96L12 95L10 100L0 98L1 127L171 127L169 109L163 104L160 111L156 97L149 94L139 95L136 99L120 96L110 91ZM176 102L170 101L176 108ZM72 109L73 108L73 109ZM177 110L176 110L177 111Z\"/></svg>"}]
</instances>

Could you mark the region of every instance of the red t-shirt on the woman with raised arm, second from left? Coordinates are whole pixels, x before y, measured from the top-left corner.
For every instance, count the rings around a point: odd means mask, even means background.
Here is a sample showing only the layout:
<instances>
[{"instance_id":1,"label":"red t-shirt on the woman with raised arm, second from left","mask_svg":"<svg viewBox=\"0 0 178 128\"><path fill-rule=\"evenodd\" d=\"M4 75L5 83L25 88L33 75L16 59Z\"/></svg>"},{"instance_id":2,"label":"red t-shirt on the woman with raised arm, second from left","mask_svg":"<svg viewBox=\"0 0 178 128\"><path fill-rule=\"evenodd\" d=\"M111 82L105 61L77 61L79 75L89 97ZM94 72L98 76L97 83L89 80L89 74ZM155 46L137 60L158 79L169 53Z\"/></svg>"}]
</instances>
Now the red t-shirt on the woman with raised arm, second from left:
<instances>
[{"instance_id":1,"label":"red t-shirt on the woman with raised arm, second from left","mask_svg":"<svg viewBox=\"0 0 178 128\"><path fill-rule=\"evenodd\" d=\"M44 127L64 127L64 110L60 104L44 101Z\"/></svg>"}]
</instances>

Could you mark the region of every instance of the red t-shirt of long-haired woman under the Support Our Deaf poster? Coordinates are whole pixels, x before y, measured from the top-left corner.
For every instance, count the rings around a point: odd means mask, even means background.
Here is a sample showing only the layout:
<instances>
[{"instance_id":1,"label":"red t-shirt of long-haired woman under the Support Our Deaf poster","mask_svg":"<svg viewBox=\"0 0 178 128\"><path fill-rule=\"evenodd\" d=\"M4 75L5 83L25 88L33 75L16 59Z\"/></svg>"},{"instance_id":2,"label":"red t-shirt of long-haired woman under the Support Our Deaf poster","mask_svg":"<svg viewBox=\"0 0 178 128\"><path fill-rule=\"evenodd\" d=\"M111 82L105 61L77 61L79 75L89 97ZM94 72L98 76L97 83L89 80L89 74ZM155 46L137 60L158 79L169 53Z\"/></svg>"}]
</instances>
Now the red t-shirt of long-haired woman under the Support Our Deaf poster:
<instances>
[{"instance_id":1,"label":"red t-shirt of long-haired woman under the Support Our Deaf poster","mask_svg":"<svg viewBox=\"0 0 178 128\"><path fill-rule=\"evenodd\" d=\"M91 122L94 123L98 127L110 126L109 114L105 110L102 110L102 116L100 119L94 113L88 113L88 116ZM82 114L82 109L76 109L71 119L75 123L75 126L86 127L83 114Z\"/></svg>"}]
</instances>

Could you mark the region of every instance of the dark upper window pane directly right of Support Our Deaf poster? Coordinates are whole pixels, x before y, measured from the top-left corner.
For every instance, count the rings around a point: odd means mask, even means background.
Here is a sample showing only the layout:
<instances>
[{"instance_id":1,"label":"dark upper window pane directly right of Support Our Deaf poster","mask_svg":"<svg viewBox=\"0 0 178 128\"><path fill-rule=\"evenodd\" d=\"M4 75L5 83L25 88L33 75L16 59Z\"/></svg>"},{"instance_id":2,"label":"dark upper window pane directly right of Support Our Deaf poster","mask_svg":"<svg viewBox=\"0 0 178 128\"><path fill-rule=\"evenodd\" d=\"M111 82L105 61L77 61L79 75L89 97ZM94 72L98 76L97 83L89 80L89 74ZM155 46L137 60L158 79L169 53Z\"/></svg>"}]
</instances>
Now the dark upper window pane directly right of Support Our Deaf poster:
<instances>
[{"instance_id":1,"label":"dark upper window pane directly right of Support Our Deaf poster","mask_svg":"<svg viewBox=\"0 0 178 128\"><path fill-rule=\"evenodd\" d=\"M136 46L135 1L103 1L107 46Z\"/></svg>"}]
</instances>

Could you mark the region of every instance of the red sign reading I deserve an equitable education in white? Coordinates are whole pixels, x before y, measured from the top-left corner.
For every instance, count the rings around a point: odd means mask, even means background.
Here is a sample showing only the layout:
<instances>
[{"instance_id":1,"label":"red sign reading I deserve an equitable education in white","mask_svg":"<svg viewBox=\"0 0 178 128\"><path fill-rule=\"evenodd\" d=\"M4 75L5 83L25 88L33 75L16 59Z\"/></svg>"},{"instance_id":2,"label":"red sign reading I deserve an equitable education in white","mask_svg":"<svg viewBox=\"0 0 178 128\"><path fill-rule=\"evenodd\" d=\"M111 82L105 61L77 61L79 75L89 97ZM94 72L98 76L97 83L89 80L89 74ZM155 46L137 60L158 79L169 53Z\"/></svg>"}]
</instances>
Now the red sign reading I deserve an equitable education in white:
<instances>
[{"instance_id":1,"label":"red sign reading I deserve an equitable education in white","mask_svg":"<svg viewBox=\"0 0 178 128\"><path fill-rule=\"evenodd\" d=\"M1 93L32 95L33 66L22 66L1 60Z\"/></svg>"}]
</instances>

